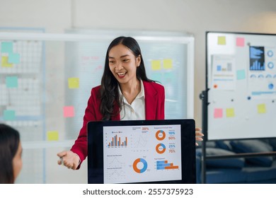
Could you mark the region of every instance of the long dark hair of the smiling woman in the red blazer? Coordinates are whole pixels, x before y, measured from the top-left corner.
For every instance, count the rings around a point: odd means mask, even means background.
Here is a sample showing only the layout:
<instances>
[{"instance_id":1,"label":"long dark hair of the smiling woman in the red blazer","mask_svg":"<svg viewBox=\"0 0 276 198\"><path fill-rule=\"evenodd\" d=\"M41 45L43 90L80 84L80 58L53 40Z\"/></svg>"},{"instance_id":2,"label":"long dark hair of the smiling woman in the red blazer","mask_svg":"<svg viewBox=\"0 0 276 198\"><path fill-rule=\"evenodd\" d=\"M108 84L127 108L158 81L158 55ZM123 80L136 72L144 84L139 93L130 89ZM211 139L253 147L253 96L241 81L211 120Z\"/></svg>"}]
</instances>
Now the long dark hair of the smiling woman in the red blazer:
<instances>
[{"instance_id":1,"label":"long dark hair of the smiling woman in the red blazer","mask_svg":"<svg viewBox=\"0 0 276 198\"><path fill-rule=\"evenodd\" d=\"M117 103L120 106L120 110L122 108L122 98L119 96L118 91L118 82L113 76L112 72L109 69L109 52L116 45L125 45L125 47L129 48L135 57L141 57L140 66L137 67L136 76L139 80L142 81L151 81L146 77L146 69L144 66L144 61L142 57L142 53L138 42L134 40L133 37L117 37L113 40L106 52L105 57L105 69L103 71L103 77L100 85L100 112L103 115L103 120L110 120L113 115L117 115L120 112L113 112L113 105Z\"/></svg>"}]
</instances>

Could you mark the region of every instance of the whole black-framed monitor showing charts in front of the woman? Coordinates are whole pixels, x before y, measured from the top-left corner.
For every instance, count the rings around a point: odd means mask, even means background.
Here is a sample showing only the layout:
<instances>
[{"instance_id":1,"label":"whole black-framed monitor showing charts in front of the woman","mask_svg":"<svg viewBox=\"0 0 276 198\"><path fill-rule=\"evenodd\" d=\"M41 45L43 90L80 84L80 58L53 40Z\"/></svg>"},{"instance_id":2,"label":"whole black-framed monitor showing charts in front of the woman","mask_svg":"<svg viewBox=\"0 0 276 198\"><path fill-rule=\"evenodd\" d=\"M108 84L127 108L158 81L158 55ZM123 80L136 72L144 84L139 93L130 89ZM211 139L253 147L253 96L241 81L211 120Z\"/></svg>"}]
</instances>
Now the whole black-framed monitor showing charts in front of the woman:
<instances>
[{"instance_id":1,"label":"whole black-framed monitor showing charts in front of the woman","mask_svg":"<svg viewBox=\"0 0 276 198\"><path fill-rule=\"evenodd\" d=\"M88 183L195 183L195 120L88 122Z\"/></svg>"}]
</instances>

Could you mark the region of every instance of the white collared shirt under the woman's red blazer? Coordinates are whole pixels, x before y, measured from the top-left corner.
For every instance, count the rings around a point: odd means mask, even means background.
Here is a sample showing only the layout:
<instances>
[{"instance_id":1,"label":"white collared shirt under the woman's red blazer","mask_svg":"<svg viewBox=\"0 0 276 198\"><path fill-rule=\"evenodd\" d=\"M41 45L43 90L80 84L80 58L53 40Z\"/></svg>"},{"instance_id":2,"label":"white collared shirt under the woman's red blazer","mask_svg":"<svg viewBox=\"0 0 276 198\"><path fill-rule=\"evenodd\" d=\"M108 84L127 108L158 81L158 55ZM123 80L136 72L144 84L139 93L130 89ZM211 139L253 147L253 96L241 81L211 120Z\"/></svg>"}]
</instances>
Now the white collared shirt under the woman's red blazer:
<instances>
[{"instance_id":1,"label":"white collared shirt under the woman's red blazer","mask_svg":"<svg viewBox=\"0 0 276 198\"><path fill-rule=\"evenodd\" d=\"M122 95L120 87L118 86L123 103L122 110L120 111L120 120L146 120L146 111L144 104L144 85L142 80L140 82L141 91L133 100L131 105L127 103L127 99L125 99L125 96Z\"/></svg>"}]
</instances>

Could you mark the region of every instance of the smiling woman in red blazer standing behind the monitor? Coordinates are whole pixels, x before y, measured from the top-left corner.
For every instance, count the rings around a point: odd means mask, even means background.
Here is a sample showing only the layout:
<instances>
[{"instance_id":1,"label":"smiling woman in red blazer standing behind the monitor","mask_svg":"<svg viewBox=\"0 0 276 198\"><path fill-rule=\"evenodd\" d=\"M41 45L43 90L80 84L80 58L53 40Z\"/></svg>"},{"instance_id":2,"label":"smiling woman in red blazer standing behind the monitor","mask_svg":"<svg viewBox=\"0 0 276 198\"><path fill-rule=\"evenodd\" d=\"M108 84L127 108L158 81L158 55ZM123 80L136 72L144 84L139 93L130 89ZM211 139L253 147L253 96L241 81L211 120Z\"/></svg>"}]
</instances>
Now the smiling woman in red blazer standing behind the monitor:
<instances>
[{"instance_id":1,"label":"smiling woman in red blazer standing behind the monitor","mask_svg":"<svg viewBox=\"0 0 276 198\"><path fill-rule=\"evenodd\" d=\"M140 47L132 37L110 43L100 86L92 88L84 124L70 151L57 153L67 168L78 169L87 156L86 124L100 120L164 120L163 86L146 77ZM202 136L200 129L196 135ZM197 137L197 140L201 140Z\"/></svg>"}]
</instances>

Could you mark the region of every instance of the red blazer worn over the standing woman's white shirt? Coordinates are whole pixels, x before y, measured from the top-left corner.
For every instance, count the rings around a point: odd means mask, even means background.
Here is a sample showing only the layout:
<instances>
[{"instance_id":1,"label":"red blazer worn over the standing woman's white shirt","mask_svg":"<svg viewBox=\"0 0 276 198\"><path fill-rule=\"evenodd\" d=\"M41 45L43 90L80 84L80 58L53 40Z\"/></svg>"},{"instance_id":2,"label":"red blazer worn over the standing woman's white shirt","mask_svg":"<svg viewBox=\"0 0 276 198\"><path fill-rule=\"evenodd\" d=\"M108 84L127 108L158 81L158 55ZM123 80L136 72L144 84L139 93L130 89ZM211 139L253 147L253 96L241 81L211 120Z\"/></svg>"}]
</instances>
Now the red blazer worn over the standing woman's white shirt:
<instances>
[{"instance_id":1,"label":"red blazer worn over the standing woman's white shirt","mask_svg":"<svg viewBox=\"0 0 276 198\"><path fill-rule=\"evenodd\" d=\"M144 100L146 109L146 120L164 120L165 118L165 90L163 86L154 82L143 81ZM88 121L100 121L103 115L100 113L100 86L92 88L91 96L84 115L84 124L79 132L78 139L72 146L71 151L79 155L81 162L87 156L87 132ZM114 111L120 110L118 105L114 105ZM120 120L120 113L111 117L111 120ZM79 167L78 167L79 168Z\"/></svg>"}]
</instances>

